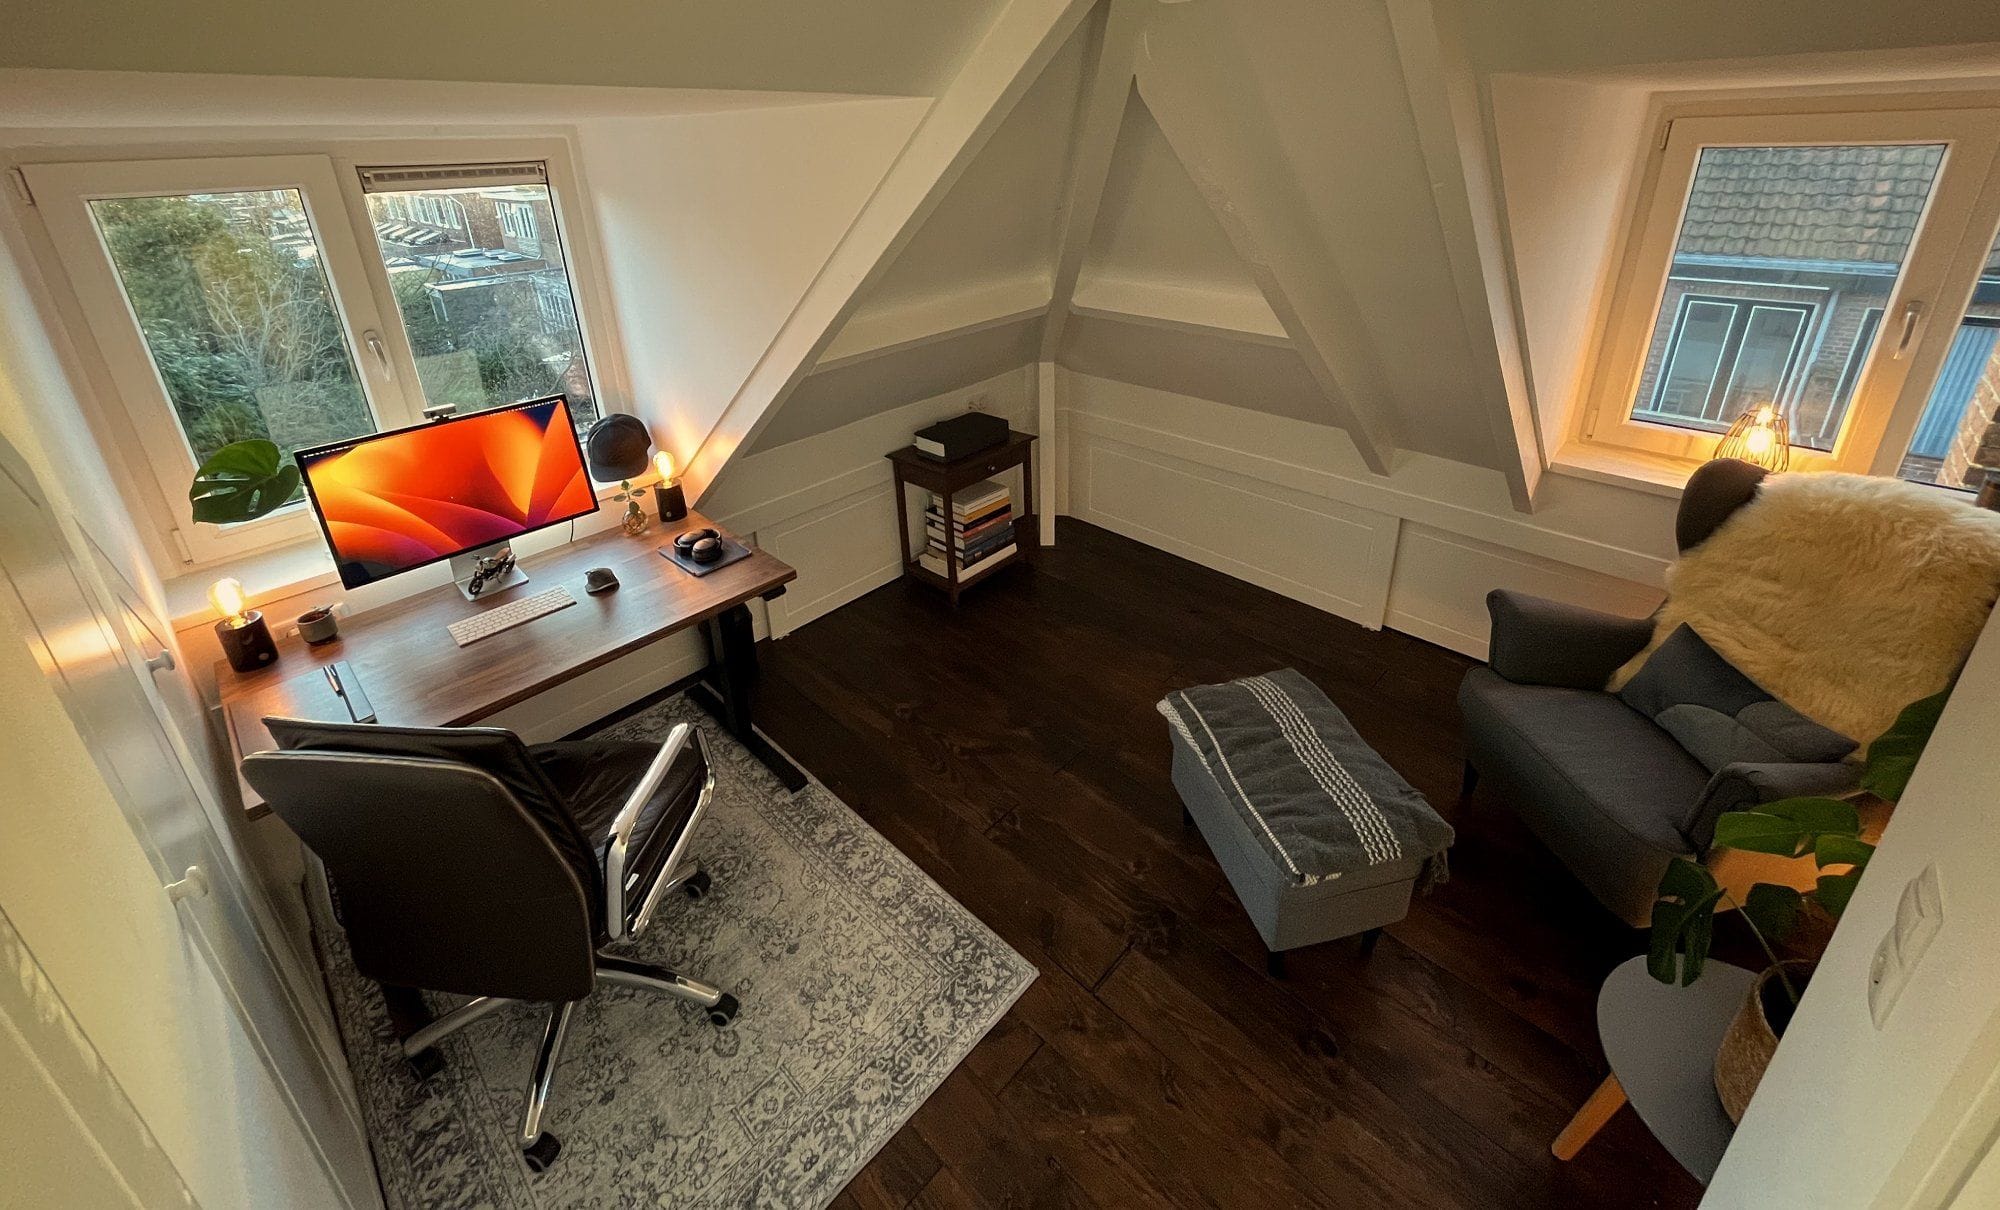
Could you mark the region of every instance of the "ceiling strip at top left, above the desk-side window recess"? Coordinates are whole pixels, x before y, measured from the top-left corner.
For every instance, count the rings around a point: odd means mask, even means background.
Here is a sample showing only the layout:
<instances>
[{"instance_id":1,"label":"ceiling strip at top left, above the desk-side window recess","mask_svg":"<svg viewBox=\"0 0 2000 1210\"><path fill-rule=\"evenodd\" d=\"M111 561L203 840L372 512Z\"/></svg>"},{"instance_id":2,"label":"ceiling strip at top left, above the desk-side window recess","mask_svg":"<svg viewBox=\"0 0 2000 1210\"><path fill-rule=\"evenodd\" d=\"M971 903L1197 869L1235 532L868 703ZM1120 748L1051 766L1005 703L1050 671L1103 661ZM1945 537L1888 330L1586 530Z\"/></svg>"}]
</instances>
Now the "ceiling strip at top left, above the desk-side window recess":
<instances>
[{"instance_id":1,"label":"ceiling strip at top left, above the desk-side window recess","mask_svg":"<svg viewBox=\"0 0 2000 1210\"><path fill-rule=\"evenodd\" d=\"M0 66L934 94L1004 0L24 0Z\"/></svg>"}]
</instances>

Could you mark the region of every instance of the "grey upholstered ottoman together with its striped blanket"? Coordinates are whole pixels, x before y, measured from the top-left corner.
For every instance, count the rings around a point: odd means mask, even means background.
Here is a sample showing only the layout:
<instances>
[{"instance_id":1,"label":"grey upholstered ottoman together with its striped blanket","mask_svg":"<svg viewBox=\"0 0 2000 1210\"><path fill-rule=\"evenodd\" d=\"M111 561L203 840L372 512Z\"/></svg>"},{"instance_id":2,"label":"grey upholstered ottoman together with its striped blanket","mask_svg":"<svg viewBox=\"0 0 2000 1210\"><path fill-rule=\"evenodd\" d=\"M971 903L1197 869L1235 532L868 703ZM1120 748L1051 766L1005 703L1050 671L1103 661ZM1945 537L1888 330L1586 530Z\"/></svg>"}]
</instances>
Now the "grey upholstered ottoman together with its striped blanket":
<instances>
[{"instance_id":1,"label":"grey upholstered ottoman together with its striped blanket","mask_svg":"<svg viewBox=\"0 0 2000 1210\"><path fill-rule=\"evenodd\" d=\"M1242 900L1274 976L1284 952L1362 934L1442 878L1452 826L1310 680L1284 668L1160 700L1174 788Z\"/></svg>"}]
</instances>

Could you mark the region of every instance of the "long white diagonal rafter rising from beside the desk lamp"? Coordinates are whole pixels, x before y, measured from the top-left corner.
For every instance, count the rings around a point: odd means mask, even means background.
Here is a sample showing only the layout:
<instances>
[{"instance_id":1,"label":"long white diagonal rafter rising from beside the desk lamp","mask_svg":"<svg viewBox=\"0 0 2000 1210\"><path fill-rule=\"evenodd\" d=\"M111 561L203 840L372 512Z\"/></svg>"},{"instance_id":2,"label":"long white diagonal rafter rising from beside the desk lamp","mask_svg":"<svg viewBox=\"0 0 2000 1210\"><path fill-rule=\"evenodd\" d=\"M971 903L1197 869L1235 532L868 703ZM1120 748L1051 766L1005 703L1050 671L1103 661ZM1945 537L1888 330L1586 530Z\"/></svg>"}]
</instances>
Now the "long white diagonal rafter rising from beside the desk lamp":
<instances>
[{"instance_id":1,"label":"long white diagonal rafter rising from beside the desk lamp","mask_svg":"<svg viewBox=\"0 0 2000 1210\"><path fill-rule=\"evenodd\" d=\"M868 286L888 272L1088 12L1090 0L1010 0L1000 12L688 462L684 480L696 498L798 390Z\"/></svg>"}]
</instances>

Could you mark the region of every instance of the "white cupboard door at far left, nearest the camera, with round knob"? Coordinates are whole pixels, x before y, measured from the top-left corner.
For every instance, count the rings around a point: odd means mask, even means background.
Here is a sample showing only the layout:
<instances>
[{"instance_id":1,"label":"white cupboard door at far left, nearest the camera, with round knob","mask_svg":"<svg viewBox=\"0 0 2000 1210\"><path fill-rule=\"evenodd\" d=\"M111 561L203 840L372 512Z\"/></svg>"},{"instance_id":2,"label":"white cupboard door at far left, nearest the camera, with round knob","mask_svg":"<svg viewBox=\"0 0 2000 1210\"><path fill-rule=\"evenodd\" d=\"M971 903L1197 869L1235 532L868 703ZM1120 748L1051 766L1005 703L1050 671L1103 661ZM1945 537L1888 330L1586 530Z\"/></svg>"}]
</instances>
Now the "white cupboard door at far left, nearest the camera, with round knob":
<instances>
[{"instance_id":1,"label":"white cupboard door at far left, nearest the camera, with round knob","mask_svg":"<svg viewBox=\"0 0 2000 1210\"><path fill-rule=\"evenodd\" d=\"M150 652L90 584L0 442L0 696L18 714L0 742L20 770L0 814L0 908L196 1202L378 1206L346 1076L314 1044L156 714Z\"/></svg>"}]
</instances>

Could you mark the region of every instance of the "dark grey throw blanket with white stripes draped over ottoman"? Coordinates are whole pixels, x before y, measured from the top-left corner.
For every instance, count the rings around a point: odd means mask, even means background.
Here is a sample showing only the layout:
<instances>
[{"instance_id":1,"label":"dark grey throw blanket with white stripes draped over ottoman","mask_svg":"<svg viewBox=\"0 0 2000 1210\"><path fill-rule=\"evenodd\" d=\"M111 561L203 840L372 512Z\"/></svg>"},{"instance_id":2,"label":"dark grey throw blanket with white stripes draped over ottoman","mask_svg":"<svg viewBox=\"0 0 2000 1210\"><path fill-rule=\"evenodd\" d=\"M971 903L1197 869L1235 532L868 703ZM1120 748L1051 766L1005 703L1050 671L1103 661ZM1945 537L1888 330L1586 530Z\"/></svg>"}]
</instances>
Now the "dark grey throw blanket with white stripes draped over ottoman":
<instances>
[{"instance_id":1,"label":"dark grey throw blanket with white stripes draped over ottoman","mask_svg":"<svg viewBox=\"0 0 2000 1210\"><path fill-rule=\"evenodd\" d=\"M1452 826L1296 670L1176 690L1158 708L1296 882L1392 862L1444 880Z\"/></svg>"}]
</instances>

